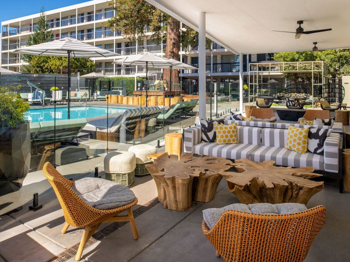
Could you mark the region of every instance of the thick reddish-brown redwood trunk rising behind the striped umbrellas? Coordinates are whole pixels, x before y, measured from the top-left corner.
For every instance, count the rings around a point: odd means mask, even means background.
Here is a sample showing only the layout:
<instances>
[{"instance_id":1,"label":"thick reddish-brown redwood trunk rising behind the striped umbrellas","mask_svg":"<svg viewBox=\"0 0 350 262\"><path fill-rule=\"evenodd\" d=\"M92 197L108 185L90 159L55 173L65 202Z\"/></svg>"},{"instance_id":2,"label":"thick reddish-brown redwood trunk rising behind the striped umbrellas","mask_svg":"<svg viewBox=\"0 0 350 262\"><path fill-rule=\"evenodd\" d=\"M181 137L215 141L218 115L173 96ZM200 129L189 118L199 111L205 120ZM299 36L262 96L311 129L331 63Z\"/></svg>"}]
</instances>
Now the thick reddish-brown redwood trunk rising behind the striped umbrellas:
<instances>
[{"instance_id":1,"label":"thick reddish-brown redwood trunk rising behind the striped umbrellas","mask_svg":"<svg viewBox=\"0 0 350 262\"><path fill-rule=\"evenodd\" d=\"M179 50L180 50L180 22L170 17L167 27L167 47L165 49L165 57L173 58L179 60ZM170 83L170 70L164 70L164 80ZM179 71L173 70L172 81L179 81Z\"/></svg>"}]
</instances>

